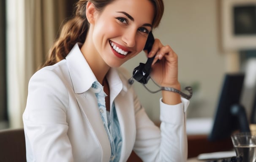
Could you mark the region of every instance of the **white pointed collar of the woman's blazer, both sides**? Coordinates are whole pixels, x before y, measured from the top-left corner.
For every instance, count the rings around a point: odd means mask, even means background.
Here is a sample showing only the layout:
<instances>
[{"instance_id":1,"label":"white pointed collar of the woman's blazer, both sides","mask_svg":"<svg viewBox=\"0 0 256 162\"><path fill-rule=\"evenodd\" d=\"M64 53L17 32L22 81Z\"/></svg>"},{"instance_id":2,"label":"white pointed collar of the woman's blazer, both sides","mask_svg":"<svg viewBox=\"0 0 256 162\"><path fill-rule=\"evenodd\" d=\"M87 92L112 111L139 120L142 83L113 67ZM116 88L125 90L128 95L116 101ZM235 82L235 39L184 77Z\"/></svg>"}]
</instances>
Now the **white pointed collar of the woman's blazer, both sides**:
<instances>
[{"instance_id":1,"label":"white pointed collar of the woman's blazer, both sides","mask_svg":"<svg viewBox=\"0 0 256 162\"><path fill-rule=\"evenodd\" d=\"M71 81L76 94L86 92L90 89L93 82L97 81L97 78L84 58L79 46L82 46L82 43L76 43L66 57ZM124 78L120 78L116 68L110 68L106 77L108 79L110 89L115 91L112 93L113 95L116 96L122 89L127 91L128 85L123 83L128 83L128 81L122 82Z\"/></svg>"}]
</instances>

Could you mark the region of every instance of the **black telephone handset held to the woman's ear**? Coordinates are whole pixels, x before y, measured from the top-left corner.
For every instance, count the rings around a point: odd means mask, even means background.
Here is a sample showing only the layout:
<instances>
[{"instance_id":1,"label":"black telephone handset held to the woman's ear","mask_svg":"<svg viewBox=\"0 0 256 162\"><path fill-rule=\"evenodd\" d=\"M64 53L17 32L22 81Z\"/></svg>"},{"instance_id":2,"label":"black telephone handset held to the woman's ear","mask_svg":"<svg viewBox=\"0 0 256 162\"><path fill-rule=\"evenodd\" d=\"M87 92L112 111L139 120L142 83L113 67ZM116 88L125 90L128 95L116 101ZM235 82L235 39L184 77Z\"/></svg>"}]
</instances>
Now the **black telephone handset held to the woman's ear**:
<instances>
[{"instance_id":1,"label":"black telephone handset held to the woman's ear","mask_svg":"<svg viewBox=\"0 0 256 162\"><path fill-rule=\"evenodd\" d=\"M149 33L147 37L147 41L144 47L144 50L147 50L147 53L149 53L152 49L152 46L154 44L155 38L152 34L152 32ZM151 71L151 65L155 57L151 57L147 59L147 62L144 64L142 62L139 63L139 66L135 67L133 70L133 78L136 81L139 81L142 84L147 84L147 81L150 79L150 71ZM132 84L132 83L130 83Z\"/></svg>"}]
</instances>

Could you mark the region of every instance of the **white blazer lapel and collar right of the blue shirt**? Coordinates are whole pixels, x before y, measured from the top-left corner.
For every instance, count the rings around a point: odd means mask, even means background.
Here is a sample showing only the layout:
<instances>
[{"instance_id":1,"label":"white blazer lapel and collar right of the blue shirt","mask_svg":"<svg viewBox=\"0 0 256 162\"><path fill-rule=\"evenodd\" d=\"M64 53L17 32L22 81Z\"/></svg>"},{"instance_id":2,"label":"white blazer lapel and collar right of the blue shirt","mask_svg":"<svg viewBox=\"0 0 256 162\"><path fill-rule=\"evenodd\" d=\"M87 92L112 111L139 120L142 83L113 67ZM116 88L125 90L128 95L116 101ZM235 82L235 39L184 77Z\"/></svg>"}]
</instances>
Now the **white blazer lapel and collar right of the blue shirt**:
<instances>
[{"instance_id":1,"label":"white blazer lapel and collar right of the blue shirt","mask_svg":"<svg viewBox=\"0 0 256 162\"><path fill-rule=\"evenodd\" d=\"M136 123L134 116L133 94L128 93L128 79L123 71L111 68L108 72L110 85L110 100L114 102L117 118L123 137L120 162L126 161L131 154L136 138Z\"/></svg>"}]
</instances>

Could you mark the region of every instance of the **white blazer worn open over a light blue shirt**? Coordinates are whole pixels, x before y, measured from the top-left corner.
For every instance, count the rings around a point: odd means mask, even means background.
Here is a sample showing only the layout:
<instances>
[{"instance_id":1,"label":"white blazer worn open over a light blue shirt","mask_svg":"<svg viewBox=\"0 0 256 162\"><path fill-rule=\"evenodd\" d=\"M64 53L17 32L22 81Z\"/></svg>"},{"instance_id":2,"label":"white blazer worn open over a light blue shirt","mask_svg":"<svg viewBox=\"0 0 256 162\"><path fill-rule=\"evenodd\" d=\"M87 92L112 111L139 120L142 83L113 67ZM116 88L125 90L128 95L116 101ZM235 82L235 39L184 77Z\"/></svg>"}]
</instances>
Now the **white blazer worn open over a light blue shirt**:
<instances>
[{"instance_id":1,"label":"white blazer worn open over a light blue shirt","mask_svg":"<svg viewBox=\"0 0 256 162\"><path fill-rule=\"evenodd\" d=\"M160 102L160 131L128 78L115 68L107 76L123 135L120 162L133 149L146 162L185 162L188 100L173 106ZM91 91L96 80L78 44L66 59L32 76L23 114L27 162L109 162L109 139Z\"/></svg>"}]
</instances>

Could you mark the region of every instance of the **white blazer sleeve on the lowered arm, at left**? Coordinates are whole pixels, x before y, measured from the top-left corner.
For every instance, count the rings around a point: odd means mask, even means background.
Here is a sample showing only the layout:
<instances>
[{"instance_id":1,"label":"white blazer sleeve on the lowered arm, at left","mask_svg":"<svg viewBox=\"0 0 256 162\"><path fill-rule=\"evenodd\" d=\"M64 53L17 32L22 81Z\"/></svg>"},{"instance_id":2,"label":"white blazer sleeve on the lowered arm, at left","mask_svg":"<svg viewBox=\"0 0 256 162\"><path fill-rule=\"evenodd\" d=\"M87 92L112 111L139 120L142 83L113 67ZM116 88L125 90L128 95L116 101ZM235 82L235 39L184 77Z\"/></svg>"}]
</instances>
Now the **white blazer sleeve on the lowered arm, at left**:
<instances>
[{"instance_id":1,"label":"white blazer sleeve on the lowered arm, at left","mask_svg":"<svg viewBox=\"0 0 256 162\"><path fill-rule=\"evenodd\" d=\"M68 92L52 70L41 69L30 79L23 122L27 161L73 162L67 136Z\"/></svg>"}]
</instances>

